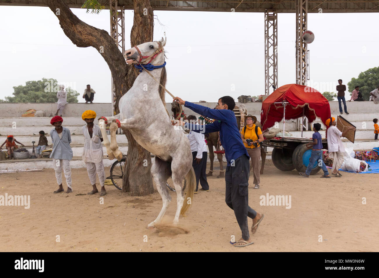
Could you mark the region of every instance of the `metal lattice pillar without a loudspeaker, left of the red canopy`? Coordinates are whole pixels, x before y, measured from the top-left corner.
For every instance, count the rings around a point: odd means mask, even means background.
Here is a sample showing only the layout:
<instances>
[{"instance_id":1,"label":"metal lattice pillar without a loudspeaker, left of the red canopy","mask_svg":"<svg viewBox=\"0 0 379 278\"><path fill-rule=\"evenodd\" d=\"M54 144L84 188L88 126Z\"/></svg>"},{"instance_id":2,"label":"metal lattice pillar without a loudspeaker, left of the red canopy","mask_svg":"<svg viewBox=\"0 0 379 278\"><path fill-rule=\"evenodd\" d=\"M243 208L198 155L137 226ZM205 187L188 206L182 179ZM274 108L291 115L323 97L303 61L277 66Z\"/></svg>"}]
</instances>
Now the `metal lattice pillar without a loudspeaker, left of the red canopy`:
<instances>
[{"instance_id":1,"label":"metal lattice pillar without a loudspeaker, left of the red canopy","mask_svg":"<svg viewBox=\"0 0 379 278\"><path fill-rule=\"evenodd\" d=\"M278 87L278 24L277 12L265 12L265 93ZM273 89L273 88L272 88ZM273 89L274 91L275 89Z\"/></svg>"}]
</instances>

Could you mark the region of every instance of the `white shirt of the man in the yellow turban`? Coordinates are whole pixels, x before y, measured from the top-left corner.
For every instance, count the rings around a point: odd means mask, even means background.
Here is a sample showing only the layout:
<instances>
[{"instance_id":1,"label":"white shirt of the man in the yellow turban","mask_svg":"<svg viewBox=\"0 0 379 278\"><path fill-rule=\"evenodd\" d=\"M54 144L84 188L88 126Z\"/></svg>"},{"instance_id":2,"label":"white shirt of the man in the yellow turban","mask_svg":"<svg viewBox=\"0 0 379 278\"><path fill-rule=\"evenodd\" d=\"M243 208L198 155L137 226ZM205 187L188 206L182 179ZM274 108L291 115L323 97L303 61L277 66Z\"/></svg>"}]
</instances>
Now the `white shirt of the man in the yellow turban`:
<instances>
[{"instance_id":1,"label":"white shirt of the man in the yellow turban","mask_svg":"<svg viewBox=\"0 0 379 278\"><path fill-rule=\"evenodd\" d=\"M92 138L89 137L89 132L87 125L81 128L81 131L84 135L84 147L83 147L83 158L84 162L99 163L103 160L103 146L101 144L100 138L103 138L101 135L100 127L97 124L94 124L92 128Z\"/></svg>"}]
</instances>

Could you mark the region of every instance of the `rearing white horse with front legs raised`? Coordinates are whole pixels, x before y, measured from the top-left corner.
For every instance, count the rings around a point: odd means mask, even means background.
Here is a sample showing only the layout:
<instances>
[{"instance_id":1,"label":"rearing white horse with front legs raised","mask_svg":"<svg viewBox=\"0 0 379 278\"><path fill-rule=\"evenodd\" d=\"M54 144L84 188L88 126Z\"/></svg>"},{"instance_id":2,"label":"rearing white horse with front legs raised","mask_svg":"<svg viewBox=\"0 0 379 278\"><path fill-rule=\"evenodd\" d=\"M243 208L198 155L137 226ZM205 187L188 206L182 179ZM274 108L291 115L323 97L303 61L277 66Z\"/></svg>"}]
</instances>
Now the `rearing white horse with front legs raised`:
<instances>
[{"instance_id":1,"label":"rearing white horse with front legs raised","mask_svg":"<svg viewBox=\"0 0 379 278\"><path fill-rule=\"evenodd\" d=\"M127 64L163 65L166 39L158 42L146 42L126 50L124 57ZM153 68L150 66L150 68ZM166 69L155 68L150 71L157 81L166 84ZM166 212L171 196L166 186L171 176L177 193L177 210L173 224L179 222L179 214L185 214L193 199L196 187L195 172L192 168L192 153L189 141L182 130L175 130L166 112L164 89L160 87L146 71L142 71L128 92L119 101L120 113L114 117L99 118L99 126L104 138L108 158L121 160L122 153L116 142L117 127L130 130L133 138L147 151L155 155L151 173L154 177L163 207L153 222L147 227L153 228ZM149 107L149 109L146 109ZM105 124L110 124L111 142L105 131ZM182 181L186 179L186 196L183 197ZM191 198L191 199L188 199Z\"/></svg>"}]
</instances>

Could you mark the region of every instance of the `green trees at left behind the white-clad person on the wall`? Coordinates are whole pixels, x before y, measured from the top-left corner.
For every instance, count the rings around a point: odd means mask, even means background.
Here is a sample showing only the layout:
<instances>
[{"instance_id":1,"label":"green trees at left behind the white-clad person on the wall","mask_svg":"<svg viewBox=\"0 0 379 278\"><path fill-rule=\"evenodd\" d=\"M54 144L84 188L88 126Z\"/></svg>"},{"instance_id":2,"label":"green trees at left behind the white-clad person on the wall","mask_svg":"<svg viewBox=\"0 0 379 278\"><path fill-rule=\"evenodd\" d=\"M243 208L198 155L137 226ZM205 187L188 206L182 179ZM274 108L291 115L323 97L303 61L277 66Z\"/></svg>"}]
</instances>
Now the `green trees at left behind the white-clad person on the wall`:
<instances>
[{"instance_id":1,"label":"green trees at left behind the white-clad person on the wall","mask_svg":"<svg viewBox=\"0 0 379 278\"><path fill-rule=\"evenodd\" d=\"M0 102L7 103L55 103L58 101L56 93L59 91L59 83L56 79L42 78L38 81L27 81L25 85L13 87L13 96L6 96ZM70 87L64 88L67 92L67 103L77 103L77 91Z\"/></svg>"}]
</instances>

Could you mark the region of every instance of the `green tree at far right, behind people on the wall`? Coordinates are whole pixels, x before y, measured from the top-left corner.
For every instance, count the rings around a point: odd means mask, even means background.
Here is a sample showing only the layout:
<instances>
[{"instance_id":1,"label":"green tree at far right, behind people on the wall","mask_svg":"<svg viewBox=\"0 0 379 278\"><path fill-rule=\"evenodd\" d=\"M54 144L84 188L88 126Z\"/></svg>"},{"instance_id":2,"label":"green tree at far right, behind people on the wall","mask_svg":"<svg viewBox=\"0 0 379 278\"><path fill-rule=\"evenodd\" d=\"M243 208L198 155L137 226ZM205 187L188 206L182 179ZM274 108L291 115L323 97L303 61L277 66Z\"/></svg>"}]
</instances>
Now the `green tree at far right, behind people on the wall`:
<instances>
[{"instance_id":1,"label":"green tree at far right, behind people on the wall","mask_svg":"<svg viewBox=\"0 0 379 278\"><path fill-rule=\"evenodd\" d=\"M362 93L362 97L365 100L369 100L370 92L377 88L379 85L379 67L369 68L366 71L361 72L358 78L352 78L348 83L348 90L351 92L355 89L355 86L359 86L359 92Z\"/></svg>"}]
</instances>

